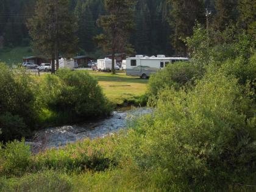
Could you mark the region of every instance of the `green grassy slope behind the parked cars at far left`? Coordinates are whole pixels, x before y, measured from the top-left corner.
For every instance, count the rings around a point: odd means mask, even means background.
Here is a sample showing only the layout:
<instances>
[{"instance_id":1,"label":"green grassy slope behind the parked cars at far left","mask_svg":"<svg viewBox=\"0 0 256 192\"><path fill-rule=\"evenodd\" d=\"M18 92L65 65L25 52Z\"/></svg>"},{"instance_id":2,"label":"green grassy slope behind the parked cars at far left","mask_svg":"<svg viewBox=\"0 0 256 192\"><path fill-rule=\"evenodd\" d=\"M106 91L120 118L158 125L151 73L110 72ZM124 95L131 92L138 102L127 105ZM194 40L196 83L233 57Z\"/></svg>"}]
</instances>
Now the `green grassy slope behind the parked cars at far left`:
<instances>
[{"instance_id":1,"label":"green grassy slope behind the parked cars at far left","mask_svg":"<svg viewBox=\"0 0 256 192\"><path fill-rule=\"evenodd\" d=\"M34 55L30 47L16 47L0 49L0 62L7 65L17 65L23 62L23 57Z\"/></svg>"}]
</instances>

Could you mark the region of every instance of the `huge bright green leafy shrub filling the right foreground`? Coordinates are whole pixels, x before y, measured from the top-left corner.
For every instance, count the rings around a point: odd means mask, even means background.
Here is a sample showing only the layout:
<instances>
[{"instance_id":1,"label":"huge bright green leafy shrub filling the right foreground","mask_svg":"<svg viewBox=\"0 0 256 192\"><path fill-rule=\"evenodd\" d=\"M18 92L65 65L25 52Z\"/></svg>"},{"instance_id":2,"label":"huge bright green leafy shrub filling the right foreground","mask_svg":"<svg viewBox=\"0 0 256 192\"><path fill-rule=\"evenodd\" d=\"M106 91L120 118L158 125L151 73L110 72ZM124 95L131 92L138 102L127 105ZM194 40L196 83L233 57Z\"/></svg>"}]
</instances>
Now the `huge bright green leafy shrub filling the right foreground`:
<instances>
[{"instance_id":1,"label":"huge bright green leafy shrub filling the right foreground","mask_svg":"<svg viewBox=\"0 0 256 192\"><path fill-rule=\"evenodd\" d=\"M154 119L135 129L144 135L138 151L131 149L138 165L157 170L152 177L168 190L218 191L252 183L255 117L244 112L255 104L236 82L213 74L194 90L160 93Z\"/></svg>"}]
</instances>

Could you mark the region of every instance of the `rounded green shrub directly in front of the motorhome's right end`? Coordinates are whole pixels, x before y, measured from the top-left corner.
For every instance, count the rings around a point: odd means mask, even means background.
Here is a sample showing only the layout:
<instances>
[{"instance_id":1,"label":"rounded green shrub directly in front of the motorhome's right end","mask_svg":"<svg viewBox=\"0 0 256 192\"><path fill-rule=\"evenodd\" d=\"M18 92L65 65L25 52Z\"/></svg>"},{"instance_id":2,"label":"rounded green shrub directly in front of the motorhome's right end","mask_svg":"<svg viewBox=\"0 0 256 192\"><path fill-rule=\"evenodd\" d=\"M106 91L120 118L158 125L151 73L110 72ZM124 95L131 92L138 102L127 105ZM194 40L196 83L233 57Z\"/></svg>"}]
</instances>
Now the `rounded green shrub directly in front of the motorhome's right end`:
<instances>
[{"instance_id":1,"label":"rounded green shrub directly in front of the motorhome's right end","mask_svg":"<svg viewBox=\"0 0 256 192\"><path fill-rule=\"evenodd\" d=\"M158 71L149 79L148 94L156 96L163 88L174 87L179 90L185 85L193 85L197 69L191 63L179 62Z\"/></svg>"}]
</instances>

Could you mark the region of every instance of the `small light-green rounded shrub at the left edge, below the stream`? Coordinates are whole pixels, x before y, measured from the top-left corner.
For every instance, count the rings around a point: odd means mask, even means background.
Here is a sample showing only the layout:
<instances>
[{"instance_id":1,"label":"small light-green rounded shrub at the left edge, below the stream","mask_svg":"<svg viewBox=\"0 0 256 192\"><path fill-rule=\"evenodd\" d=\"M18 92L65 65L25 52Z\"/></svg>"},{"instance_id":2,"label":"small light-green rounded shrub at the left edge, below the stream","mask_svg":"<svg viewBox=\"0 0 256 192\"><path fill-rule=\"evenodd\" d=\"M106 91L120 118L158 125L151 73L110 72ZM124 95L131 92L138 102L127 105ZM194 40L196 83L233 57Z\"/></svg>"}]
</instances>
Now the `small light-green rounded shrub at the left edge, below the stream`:
<instances>
[{"instance_id":1,"label":"small light-green rounded shrub at the left edge, below the stream","mask_svg":"<svg viewBox=\"0 0 256 192\"><path fill-rule=\"evenodd\" d=\"M32 163L30 147L25 144L24 139L7 143L0 148L0 174L9 176L22 175L30 168Z\"/></svg>"}]
</instances>

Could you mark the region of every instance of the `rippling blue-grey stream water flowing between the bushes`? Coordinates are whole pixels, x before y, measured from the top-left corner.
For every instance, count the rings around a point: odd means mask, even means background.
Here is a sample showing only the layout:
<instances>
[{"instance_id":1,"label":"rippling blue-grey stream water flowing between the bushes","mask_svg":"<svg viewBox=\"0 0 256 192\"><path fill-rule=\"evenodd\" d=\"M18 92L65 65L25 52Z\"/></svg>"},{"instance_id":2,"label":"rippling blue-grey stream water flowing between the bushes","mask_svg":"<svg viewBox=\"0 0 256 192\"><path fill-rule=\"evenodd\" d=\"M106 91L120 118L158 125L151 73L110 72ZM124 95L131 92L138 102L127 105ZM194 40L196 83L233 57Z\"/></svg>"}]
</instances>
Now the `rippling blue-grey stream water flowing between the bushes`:
<instances>
[{"instance_id":1,"label":"rippling blue-grey stream water flowing between the bushes","mask_svg":"<svg viewBox=\"0 0 256 192\"><path fill-rule=\"evenodd\" d=\"M113 112L106 119L91 121L73 126L49 127L35 132L34 138L27 141L32 151L37 153L49 148L59 148L83 138L106 137L121 129L126 129L129 121L141 115L152 113L151 108L141 107Z\"/></svg>"}]
</instances>

